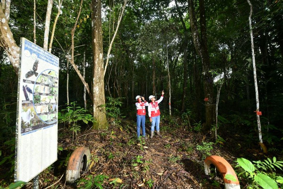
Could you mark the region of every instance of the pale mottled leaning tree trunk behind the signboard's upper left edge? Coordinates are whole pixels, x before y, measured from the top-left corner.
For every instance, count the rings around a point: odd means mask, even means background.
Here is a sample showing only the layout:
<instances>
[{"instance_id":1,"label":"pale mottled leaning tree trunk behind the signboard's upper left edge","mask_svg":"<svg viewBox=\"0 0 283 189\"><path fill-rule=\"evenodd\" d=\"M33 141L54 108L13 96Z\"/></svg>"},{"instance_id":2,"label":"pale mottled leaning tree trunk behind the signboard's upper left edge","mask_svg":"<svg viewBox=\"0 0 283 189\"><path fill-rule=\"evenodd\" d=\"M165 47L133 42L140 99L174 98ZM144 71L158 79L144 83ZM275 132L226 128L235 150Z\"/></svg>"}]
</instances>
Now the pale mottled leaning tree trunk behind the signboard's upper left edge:
<instances>
[{"instance_id":1,"label":"pale mottled leaning tree trunk behind the signboard's upper left edge","mask_svg":"<svg viewBox=\"0 0 283 189\"><path fill-rule=\"evenodd\" d=\"M20 47L16 44L13 34L8 25L8 21L0 7L0 46L2 46L14 67L15 73L18 75L20 62Z\"/></svg>"}]
</instances>

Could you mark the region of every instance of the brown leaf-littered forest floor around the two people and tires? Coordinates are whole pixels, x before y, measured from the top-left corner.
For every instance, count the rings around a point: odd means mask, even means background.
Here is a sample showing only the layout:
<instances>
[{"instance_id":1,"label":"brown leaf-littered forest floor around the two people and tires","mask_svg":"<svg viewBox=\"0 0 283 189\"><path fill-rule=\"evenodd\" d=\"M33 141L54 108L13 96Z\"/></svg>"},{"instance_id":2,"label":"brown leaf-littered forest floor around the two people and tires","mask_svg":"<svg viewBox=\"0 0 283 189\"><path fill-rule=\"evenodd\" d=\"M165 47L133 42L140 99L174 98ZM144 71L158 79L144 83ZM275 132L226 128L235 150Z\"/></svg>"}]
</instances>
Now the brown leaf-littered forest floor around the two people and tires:
<instances>
[{"instance_id":1,"label":"brown leaf-littered forest floor around the two people and tires","mask_svg":"<svg viewBox=\"0 0 283 189\"><path fill-rule=\"evenodd\" d=\"M72 132L66 128L59 129L58 146L63 150L59 152L57 162L40 174L40 188L54 183L50 188L86 188L85 184L91 182L89 175L92 178L105 175L103 181L97 181L103 188L224 188L219 173L214 174L213 178L204 174L206 156L222 156L235 165L237 157L253 156L257 159L261 154L256 144L253 147L245 145L237 131L231 134L235 140L229 137L230 132L227 131L225 141L209 143L213 139L185 128L188 126L176 127L161 121L162 137L155 132L153 139L150 139L150 123L146 122L148 139L138 141L136 122L124 120L119 125L110 125L107 131L88 128L78 133L73 143ZM81 172L84 181L66 184L68 158L78 146L90 149L94 165L89 171ZM111 182L113 180L116 182ZM32 188L32 184L27 184L25 188Z\"/></svg>"}]
</instances>

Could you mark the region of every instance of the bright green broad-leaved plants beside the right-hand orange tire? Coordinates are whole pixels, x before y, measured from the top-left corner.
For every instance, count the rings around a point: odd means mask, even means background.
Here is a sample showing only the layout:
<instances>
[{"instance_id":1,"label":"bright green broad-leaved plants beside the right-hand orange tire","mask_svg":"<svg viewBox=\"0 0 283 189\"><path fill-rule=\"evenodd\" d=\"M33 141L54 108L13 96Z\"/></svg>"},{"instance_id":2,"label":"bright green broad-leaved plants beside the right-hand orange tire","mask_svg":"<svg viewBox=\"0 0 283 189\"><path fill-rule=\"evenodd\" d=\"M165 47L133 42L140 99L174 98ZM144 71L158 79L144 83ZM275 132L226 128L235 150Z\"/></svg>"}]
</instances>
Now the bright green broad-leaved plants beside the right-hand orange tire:
<instances>
[{"instance_id":1,"label":"bright green broad-leaved plants beside the right-hand orange tire","mask_svg":"<svg viewBox=\"0 0 283 189\"><path fill-rule=\"evenodd\" d=\"M236 162L239 163L236 167L241 167L238 177L248 181L248 189L260 188L259 186L264 189L278 189L278 184L283 183L283 178L273 172L273 170L276 170L275 167L280 170L283 167L283 162L276 161L275 157L273 158L273 162L270 158L267 158L264 162L253 161L255 164L252 164L252 162L245 158L237 158ZM271 173L265 172L268 170Z\"/></svg>"}]
</instances>

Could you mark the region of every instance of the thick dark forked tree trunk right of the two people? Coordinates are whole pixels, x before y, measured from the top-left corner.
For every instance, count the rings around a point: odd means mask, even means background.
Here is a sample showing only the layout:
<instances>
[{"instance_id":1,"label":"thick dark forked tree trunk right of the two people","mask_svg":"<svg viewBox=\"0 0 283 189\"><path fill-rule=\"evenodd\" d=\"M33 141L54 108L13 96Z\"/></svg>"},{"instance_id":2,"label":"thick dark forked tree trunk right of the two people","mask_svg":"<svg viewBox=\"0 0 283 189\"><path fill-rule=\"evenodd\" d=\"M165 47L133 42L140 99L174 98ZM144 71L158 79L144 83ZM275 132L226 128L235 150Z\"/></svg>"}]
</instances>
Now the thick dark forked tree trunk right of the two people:
<instances>
[{"instance_id":1,"label":"thick dark forked tree trunk right of the two people","mask_svg":"<svg viewBox=\"0 0 283 189\"><path fill-rule=\"evenodd\" d=\"M204 130L208 131L211 125L215 123L215 105L213 100L213 81L210 70L210 61L207 48L207 35L206 35L206 23L205 23L205 9L204 1L199 0L200 5L200 31L201 38L198 34L198 27L196 22L196 16L194 11L194 4L192 0L188 0L189 16L190 16L190 26L192 29L192 38L194 41L194 46L196 52L201 57L202 69L204 74L204 92L205 92L205 125Z\"/></svg>"}]
</instances>

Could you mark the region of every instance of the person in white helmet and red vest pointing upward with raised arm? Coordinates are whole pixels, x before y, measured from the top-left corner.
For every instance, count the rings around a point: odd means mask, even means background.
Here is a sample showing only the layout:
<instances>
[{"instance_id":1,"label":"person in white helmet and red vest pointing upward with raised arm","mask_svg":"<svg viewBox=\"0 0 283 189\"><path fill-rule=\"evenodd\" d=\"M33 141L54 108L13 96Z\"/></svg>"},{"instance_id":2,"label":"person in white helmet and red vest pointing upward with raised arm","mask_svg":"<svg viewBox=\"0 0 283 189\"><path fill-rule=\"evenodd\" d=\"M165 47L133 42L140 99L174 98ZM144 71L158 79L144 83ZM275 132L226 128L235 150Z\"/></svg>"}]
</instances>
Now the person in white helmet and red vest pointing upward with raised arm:
<instances>
[{"instance_id":1,"label":"person in white helmet and red vest pointing upward with raised arm","mask_svg":"<svg viewBox=\"0 0 283 189\"><path fill-rule=\"evenodd\" d=\"M163 100L163 95L164 95L164 91L162 90L161 97L158 101L155 101L155 96L153 95L149 96L149 101L151 102L148 105L148 116L149 116L149 121L151 122L151 135L150 135L151 139L153 138L155 125L156 125L157 135L162 137L159 131L160 111L158 104Z\"/></svg>"}]
</instances>

